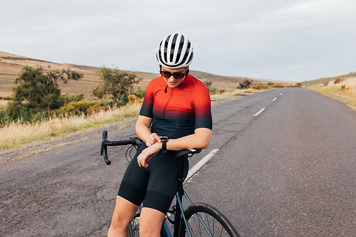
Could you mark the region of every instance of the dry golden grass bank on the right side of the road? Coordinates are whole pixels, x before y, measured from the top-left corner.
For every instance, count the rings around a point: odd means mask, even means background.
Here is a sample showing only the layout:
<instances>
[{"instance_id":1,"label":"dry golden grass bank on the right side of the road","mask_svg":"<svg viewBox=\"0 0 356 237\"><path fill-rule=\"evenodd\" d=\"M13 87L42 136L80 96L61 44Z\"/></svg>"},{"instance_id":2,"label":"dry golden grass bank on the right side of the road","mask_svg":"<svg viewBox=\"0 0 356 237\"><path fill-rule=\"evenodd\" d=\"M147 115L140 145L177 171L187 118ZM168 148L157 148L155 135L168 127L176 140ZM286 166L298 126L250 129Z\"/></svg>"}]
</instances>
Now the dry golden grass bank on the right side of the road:
<instances>
[{"instance_id":1,"label":"dry golden grass bank on the right side of the road","mask_svg":"<svg viewBox=\"0 0 356 237\"><path fill-rule=\"evenodd\" d=\"M339 100L356 110L356 78L330 80L328 84L310 85L308 89Z\"/></svg>"}]
</instances>

